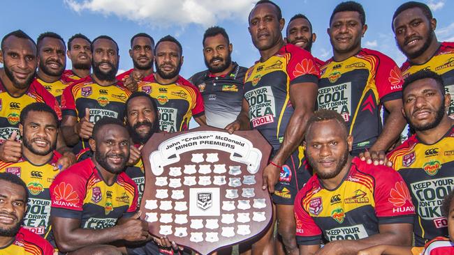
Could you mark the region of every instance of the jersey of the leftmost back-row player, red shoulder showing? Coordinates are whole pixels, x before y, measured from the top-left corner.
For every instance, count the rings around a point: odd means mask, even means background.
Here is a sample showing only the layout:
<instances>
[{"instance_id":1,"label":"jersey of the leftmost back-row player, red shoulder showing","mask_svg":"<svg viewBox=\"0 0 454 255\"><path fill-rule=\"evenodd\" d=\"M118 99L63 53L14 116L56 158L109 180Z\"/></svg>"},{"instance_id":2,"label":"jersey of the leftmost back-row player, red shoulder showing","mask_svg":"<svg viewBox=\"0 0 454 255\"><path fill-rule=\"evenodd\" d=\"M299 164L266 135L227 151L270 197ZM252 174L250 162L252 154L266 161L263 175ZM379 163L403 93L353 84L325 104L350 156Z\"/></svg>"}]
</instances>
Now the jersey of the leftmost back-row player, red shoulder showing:
<instances>
[{"instance_id":1,"label":"jersey of the leftmost back-row player, red shoulder showing","mask_svg":"<svg viewBox=\"0 0 454 255\"><path fill-rule=\"evenodd\" d=\"M0 80L0 143L8 139L13 131L19 135L20 111L33 102L45 102L61 118L60 106L54 96L34 80L20 97L13 97Z\"/></svg>"}]
</instances>

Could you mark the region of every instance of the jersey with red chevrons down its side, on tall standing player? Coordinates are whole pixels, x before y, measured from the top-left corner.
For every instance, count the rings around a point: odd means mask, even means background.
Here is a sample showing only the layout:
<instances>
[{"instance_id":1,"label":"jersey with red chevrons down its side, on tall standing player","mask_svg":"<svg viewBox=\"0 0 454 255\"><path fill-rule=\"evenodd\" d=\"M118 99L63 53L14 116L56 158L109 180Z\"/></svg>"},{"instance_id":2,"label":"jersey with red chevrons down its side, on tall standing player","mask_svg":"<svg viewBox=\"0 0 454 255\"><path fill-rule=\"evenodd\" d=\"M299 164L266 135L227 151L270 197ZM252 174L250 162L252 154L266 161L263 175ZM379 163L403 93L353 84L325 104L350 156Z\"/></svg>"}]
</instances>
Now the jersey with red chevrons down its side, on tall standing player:
<instances>
[{"instance_id":1,"label":"jersey with red chevrons down its side, on tall standing player","mask_svg":"<svg viewBox=\"0 0 454 255\"><path fill-rule=\"evenodd\" d=\"M400 69L392 59L361 49L344 61L325 62L318 83L318 109L341 114L355 137L353 150L364 150L375 143L383 129L383 102L401 100L402 83Z\"/></svg>"}]
</instances>

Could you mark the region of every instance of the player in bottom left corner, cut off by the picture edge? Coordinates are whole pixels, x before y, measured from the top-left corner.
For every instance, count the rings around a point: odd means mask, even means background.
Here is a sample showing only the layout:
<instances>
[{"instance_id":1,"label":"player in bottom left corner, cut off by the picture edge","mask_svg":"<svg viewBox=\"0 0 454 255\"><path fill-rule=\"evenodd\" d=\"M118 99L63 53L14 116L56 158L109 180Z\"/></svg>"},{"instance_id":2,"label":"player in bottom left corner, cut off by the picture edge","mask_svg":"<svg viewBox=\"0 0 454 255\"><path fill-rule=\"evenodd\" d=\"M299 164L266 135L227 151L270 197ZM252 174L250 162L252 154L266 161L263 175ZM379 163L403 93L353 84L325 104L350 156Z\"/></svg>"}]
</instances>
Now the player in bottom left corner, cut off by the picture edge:
<instances>
[{"instance_id":1,"label":"player in bottom left corner, cut off by the picture edge","mask_svg":"<svg viewBox=\"0 0 454 255\"><path fill-rule=\"evenodd\" d=\"M27 210L27 186L13 173L0 173L0 254L52 255L41 236L21 228Z\"/></svg>"}]
</instances>

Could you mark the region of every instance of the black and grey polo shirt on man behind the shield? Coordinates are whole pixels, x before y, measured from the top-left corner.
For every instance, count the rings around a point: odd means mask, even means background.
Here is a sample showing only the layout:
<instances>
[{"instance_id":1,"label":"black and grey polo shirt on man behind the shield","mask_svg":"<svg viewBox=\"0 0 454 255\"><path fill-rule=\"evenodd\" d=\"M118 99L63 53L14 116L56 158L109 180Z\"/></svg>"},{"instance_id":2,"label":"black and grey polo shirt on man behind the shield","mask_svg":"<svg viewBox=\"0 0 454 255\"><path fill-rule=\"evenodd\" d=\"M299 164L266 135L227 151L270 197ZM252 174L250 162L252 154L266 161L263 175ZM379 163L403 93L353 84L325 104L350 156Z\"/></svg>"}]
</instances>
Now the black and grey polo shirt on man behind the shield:
<instances>
[{"instance_id":1,"label":"black and grey polo shirt on man behind the shield","mask_svg":"<svg viewBox=\"0 0 454 255\"><path fill-rule=\"evenodd\" d=\"M236 120L243 102L243 82L247 68L233 62L233 70L213 76L208 70L198 72L189 81L203 96L207 124L224 128Z\"/></svg>"}]
</instances>

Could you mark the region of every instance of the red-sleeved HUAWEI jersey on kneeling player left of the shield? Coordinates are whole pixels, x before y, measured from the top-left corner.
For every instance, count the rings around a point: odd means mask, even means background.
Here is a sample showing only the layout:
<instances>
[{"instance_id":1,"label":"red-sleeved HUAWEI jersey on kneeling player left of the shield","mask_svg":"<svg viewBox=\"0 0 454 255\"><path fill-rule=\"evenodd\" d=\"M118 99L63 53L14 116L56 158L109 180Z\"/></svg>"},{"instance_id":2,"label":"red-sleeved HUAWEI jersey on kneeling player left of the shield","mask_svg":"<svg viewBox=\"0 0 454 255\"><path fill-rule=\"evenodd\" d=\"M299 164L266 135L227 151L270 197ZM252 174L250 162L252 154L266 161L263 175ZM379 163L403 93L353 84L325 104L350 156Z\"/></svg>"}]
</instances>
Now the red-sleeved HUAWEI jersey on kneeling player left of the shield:
<instances>
[{"instance_id":1,"label":"red-sleeved HUAWEI jersey on kneeling player left of the shield","mask_svg":"<svg viewBox=\"0 0 454 255\"><path fill-rule=\"evenodd\" d=\"M138 189L126 173L107 185L91 159L73 164L50 186L52 217L80 219L82 229L105 229L129 217L138 206Z\"/></svg>"}]
</instances>

